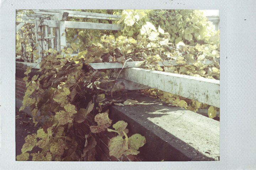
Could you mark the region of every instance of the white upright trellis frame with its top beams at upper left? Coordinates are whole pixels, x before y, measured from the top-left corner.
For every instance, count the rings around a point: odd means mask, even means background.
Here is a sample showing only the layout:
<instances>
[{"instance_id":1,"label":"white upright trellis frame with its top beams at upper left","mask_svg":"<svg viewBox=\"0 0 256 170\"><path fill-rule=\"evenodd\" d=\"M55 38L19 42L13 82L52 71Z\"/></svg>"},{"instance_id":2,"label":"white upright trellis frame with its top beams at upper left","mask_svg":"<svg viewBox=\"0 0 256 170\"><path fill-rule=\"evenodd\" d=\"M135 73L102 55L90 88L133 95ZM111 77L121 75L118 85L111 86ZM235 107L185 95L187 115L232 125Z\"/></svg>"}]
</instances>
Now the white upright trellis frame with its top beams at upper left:
<instances>
[{"instance_id":1,"label":"white upright trellis frame with its top beams at upper left","mask_svg":"<svg viewBox=\"0 0 256 170\"><path fill-rule=\"evenodd\" d=\"M121 16L109 15L91 12L79 12L70 10L32 10L34 14L27 13L16 20L16 32L20 30L26 23L35 24L34 34L36 35L37 54L40 55L42 50L47 51L49 48L57 50L62 53L66 46L66 28L75 29L100 29L100 30L122 30L122 26L118 24L104 24L104 23L91 23L91 22L73 22L66 21L68 17L79 18L95 18L95 19L109 19L119 20ZM48 45L47 41L50 40ZM41 57L33 63L29 62L16 62L17 66L29 66L39 68Z\"/></svg>"}]
</instances>

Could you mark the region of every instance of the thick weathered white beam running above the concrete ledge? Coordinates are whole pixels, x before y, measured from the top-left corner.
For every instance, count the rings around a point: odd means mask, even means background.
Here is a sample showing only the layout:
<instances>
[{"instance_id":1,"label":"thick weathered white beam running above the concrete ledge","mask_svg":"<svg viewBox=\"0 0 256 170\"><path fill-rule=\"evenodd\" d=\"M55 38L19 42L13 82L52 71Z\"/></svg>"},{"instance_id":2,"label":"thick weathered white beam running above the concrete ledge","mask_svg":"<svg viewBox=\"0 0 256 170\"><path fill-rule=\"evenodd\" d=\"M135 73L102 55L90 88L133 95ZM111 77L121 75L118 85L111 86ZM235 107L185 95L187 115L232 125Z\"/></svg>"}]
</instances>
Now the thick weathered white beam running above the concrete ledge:
<instances>
[{"instance_id":1,"label":"thick weathered white beam running above the concrete ledge","mask_svg":"<svg viewBox=\"0 0 256 170\"><path fill-rule=\"evenodd\" d=\"M159 72L142 68L124 69L123 78L155 89L218 107L219 80Z\"/></svg>"}]
</instances>

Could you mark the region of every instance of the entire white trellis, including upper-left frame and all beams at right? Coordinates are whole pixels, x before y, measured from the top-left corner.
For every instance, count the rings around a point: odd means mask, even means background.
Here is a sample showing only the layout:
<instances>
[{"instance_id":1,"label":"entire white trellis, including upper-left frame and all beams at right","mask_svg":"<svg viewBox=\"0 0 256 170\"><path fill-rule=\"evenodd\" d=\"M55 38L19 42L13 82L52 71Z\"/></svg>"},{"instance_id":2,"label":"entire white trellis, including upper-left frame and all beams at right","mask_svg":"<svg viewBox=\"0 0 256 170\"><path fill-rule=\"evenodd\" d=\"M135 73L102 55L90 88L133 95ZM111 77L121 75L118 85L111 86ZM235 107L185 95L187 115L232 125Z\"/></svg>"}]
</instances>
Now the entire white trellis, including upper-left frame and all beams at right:
<instances>
[{"instance_id":1,"label":"entire white trellis, including upper-left frame and all beams at right","mask_svg":"<svg viewBox=\"0 0 256 170\"><path fill-rule=\"evenodd\" d=\"M38 39L38 54L43 50L48 50L49 46L46 42L50 39L50 47L62 53L63 47L66 46L66 28L76 29L101 29L101 30L122 30L118 24L103 24L89 22L72 22L66 21L69 17L80 18L97 18L119 20L121 16L108 15L100 13L78 12L69 10L33 10L34 14L26 14L21 16L16 31L18 31L25 23L35 24L35 33ZM38 34L38 33L41 34ZM55 36L53 35L53 32ZM17 66L30 66L39 68L38 63L16 62ZM201 61L203 64L212 64L212 61ZM206 78L198 78L188 75L173 74L159 71L152 71L142 68L136 68L138 62L126 62L123 66L121 63L90 63L94 69L110 69L124 68L122 82L126 85L126 89L146 89L156 88L162 91L170 92L179 96L190 98L199 102L219 107L219 80ZM187 63L193 64L193 63ZM163 61L160 66L177 65L176 61Z\"/></svg>"}]
</instances>

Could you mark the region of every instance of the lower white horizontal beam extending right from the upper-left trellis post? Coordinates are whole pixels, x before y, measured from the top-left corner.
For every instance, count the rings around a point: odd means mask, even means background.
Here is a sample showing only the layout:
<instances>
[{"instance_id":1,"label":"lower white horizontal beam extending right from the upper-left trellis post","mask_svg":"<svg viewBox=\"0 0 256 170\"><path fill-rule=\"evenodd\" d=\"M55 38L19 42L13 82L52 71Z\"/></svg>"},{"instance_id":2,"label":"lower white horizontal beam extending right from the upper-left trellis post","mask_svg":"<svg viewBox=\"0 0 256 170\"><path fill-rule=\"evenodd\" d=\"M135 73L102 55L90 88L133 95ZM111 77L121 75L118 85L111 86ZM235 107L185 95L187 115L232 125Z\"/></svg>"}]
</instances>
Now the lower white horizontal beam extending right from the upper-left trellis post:
<instances>
[{"instance_id":1,"label":"lower white horizontal beam extending right from the upper-left trellis post","mask_svg":"<svg viewBox=\"0 0 256 170\"><path fill-rule=\"evenodd\" d=\"M122 30L123 27L118 24L103 24L92 22L74 22L65 21L66 28L78 28L78 29L101 29L101 30Z\"/></svg>"}]
</instances>

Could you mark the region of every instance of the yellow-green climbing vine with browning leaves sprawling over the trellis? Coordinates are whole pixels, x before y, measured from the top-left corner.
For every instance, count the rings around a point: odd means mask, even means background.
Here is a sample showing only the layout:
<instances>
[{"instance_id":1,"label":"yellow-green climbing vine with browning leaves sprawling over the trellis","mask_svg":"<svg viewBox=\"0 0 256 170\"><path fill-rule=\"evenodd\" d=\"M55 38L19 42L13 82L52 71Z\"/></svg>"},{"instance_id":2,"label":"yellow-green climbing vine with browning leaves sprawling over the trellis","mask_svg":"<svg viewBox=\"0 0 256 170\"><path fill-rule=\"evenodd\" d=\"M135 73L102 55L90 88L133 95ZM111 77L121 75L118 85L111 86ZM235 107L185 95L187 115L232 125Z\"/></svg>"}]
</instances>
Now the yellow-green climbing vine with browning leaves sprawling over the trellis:
<instances>
[{"instance_id":1,"label":"yellow-green climbing vine with browning leaves sprawling over the trellis","mask_svg":"<svg viewBox=\"0 0 256 170\"><path fill-rule=\"evenodd\" d=\"M100 12L104 13L103 10ZM27 68L23 78L27 91L20 111L29 106L34 123L41 119L47 121L37 133L25 138L22 154L16 157L17 160L93 161L95 134L106 131L116 134L108 143L110 156L119 158L122 154L139 153L138 149L146 143L145 137L140 134L128 137L128 124L122 120L110 128L112 120L108 117L108 108L111 104L139 104L128 98L124 101L115 97L124 88L116 83L122 69L94 70L89 63L119 62L124 65L127 61L141 61L138 67L219 79L219 32L213 31L211 24L199 12L105 12L122 15L119 21L112 22L124 26L121 32L101 31L96 32L96 36L93 31L66 30L70 46L62 49L62 54L53 49L44 51L39 70L42 75L31 78L31 68ZM80 20L91 21L88 18ZM70 54L78 49L81 52L71 57ZM177 66L160 67L158 62L163 60L175 60ZM204 60L213 64L204 65L200 62ZM187 62L192 62L192 65ZM211 117L216 115L215 107L181 96L157 89L141 92L192 111L208 107ZM37 97L32 97L32 94ZM28 153L34 147L40 151Z\"/></svg>"}]
</instances>

